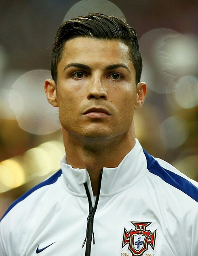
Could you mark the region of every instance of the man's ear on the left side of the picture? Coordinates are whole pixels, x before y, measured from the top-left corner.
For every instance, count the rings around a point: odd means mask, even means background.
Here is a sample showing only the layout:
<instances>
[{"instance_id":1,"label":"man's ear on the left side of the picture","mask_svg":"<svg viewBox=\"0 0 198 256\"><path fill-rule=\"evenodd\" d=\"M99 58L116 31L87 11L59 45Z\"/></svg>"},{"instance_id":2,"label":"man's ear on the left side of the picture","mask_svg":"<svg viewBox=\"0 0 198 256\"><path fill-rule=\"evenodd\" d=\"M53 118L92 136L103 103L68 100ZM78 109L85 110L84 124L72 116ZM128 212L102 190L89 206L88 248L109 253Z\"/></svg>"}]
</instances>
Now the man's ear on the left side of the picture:
<instances>
[{"instance_id":1,"label":"man's ear on the left side of the picture","mask_svg":"<svg viewBox=\"0 0 198 256\"><path fill-rule=\"evenodd\" d=\"M47 96L48 102L52 106L58 107L56 83L54 80L47 79L45 81L45 94Z\"/></svg>"}]
</instances>

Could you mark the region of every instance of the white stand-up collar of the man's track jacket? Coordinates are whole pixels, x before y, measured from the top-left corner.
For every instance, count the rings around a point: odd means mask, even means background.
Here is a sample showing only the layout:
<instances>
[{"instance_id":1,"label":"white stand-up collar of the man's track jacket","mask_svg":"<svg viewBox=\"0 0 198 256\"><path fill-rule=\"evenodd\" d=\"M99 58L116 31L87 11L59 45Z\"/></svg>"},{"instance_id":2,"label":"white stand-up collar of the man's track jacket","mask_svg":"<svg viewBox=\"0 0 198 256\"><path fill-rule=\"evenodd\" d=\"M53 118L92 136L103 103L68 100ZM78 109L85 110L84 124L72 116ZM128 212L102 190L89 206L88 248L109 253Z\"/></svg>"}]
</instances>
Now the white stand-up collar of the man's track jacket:
<instances>
[{"instance_id":1,"label":"white stand-up collar of the man's track jacket","mask_svg":"<svg viewBox=\"0 0 198 256\"><path fill-rule=\"evenodd\" d=\"M65 188L76 196L86 196L84 183L86 182L89 191L92 193L91 181L86 169L73 168L67 164L66 155L61 160L63 181ZM146 174L147 162L143 149L136 139L135 146L124 157L116 168L103 168L100 196L112 196L133 186L141 177Z\"/></svg>"}]
</instances>

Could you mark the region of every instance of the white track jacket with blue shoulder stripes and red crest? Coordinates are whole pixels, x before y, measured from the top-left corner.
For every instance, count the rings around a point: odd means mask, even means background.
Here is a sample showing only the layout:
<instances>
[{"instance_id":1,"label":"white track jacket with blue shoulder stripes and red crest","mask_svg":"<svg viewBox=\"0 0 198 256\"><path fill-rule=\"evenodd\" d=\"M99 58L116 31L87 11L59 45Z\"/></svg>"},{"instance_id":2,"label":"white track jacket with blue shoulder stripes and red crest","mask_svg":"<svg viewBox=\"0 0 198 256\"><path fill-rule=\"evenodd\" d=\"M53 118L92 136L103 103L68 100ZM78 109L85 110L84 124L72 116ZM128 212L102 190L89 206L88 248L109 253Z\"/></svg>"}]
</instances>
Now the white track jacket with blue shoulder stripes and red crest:
<instances>
[{"instance_id":1,"label":"white track jacket with blue shoulder stripes and red crest","mask_svg":"<svg viewBox=\"0 0 198 256\"><path fill-rule=\"evenodd\" d=\"M94 198L87 170L65 159L3 215L0 256L198 256L196 181L136 140Z\"/></svg>"}]
</instances>

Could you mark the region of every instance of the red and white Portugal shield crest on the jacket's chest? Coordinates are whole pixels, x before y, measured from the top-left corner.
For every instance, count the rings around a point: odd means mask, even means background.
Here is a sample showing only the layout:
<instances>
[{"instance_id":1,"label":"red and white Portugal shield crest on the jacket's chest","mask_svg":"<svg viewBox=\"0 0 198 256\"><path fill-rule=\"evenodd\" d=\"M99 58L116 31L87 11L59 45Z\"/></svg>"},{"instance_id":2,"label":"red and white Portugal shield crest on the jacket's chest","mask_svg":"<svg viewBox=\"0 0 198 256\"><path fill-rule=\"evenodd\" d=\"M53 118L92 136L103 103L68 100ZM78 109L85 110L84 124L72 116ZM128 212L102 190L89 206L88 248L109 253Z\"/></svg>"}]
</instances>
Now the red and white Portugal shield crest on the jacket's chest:
<instances>
[{"instance_id":1,"label":"red and white Portugal shield crest on the jacket's chest","mask_svg":"<svg viewBox=\"0 0 198 256\"><path fill-rule=\"evenodd\" d=\"M132 256L143 256L143 253L148 250L148 246L151 246L154 250L157 230L151 232L147 228L152 222L131 223L135 226L135 230L127 231L124 228L122 248L128 245L128 250L132 253Z\"/></svg>"}]
</instances>

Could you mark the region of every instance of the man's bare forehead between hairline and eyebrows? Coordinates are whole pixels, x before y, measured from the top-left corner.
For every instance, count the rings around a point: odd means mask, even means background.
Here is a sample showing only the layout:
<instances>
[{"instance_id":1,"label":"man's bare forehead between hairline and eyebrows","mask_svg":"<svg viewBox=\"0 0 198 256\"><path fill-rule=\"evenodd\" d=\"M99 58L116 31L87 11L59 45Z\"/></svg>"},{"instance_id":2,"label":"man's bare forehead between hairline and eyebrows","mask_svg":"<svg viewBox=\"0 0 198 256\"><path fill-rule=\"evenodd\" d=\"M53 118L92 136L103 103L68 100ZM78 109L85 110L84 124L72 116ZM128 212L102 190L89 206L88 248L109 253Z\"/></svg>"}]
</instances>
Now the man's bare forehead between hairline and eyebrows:
<instances>
[{"instance_id":1,"label":"man's bare forehead between hairline and eyebrows","mask_svg":"<svg viewBox=\"0 0 198 256\"><path fill-rule=\"evenodd\" d=\"M131 62L129 47L117 39L97 39L76 37L67 41L63 47L60 62L105 61L113 64Z\"/></svg>"}]
</instances>

